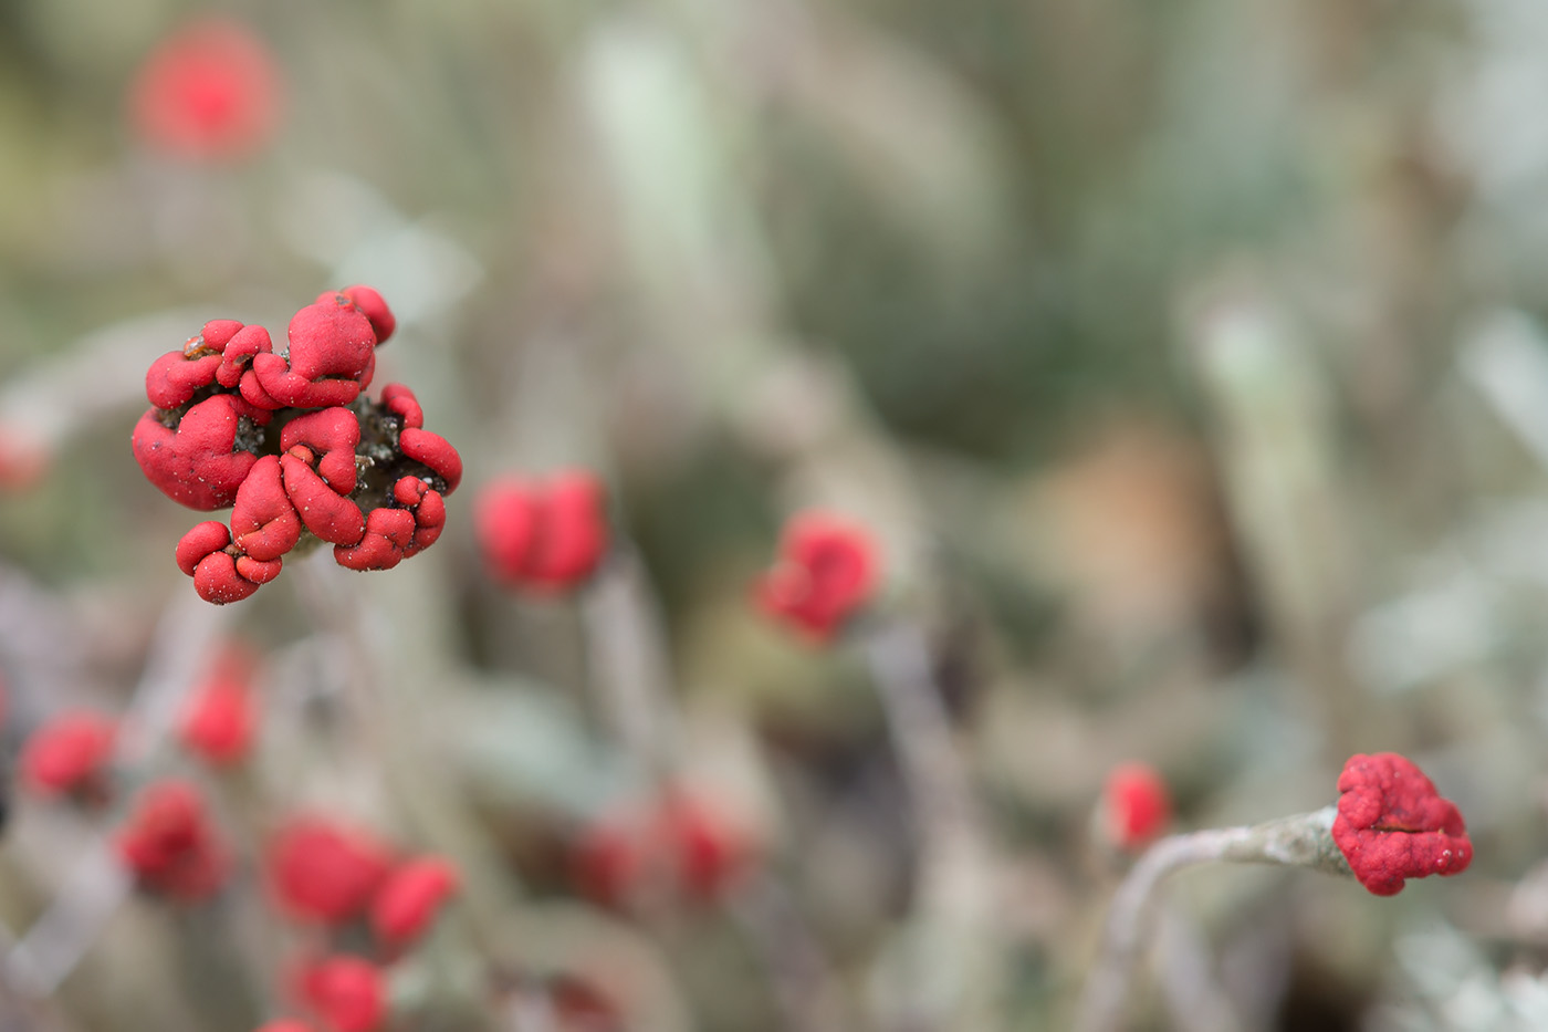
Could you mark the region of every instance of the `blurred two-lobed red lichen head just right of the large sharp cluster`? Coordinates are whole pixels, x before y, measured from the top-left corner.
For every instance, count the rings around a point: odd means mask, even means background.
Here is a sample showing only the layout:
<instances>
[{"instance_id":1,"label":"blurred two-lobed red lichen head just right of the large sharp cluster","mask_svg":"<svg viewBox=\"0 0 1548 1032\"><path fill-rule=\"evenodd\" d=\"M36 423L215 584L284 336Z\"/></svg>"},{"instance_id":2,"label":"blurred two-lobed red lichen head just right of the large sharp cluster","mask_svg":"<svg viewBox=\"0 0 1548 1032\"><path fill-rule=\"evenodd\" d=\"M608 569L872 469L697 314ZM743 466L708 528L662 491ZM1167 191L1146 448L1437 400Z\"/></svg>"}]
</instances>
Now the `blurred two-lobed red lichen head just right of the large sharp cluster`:
<instances>
[{"instance_id":1,"label":"blurred two-lobed red lichen head just right of the large sharp cluster","mask_svg":"<svg viewBox=\"0 0 1548 1032\"><path fill-rule=\"evenodd\" d=\"M478 494L474 524L489 573L512 587L577 587L607 553L602 483L584 470L542 482L492 480Z\"/></svg>"}]
</instances>

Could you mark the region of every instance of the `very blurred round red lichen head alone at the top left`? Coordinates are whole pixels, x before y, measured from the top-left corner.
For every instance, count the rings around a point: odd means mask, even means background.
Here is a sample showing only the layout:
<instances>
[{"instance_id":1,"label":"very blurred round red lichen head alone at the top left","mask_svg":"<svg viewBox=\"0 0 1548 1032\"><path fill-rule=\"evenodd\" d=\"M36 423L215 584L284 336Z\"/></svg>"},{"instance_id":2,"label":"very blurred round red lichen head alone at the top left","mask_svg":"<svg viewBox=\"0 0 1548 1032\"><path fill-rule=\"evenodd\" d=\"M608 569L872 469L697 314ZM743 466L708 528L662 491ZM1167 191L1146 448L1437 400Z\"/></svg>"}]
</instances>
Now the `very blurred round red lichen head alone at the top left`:
<instances>
[{"instance_id":1,"label":"very blurred round red lichen head alone at the top left","mask_svg":"<svg viewBox=\"0 0 1548 1032\"><path fill-rule=\"evenodd\" d=\"M243 158L274 135L280 74L251 28L206 17L146 57L128 113L139 136L159 150L206 161Z\"/></svg>"}]
</instances>

